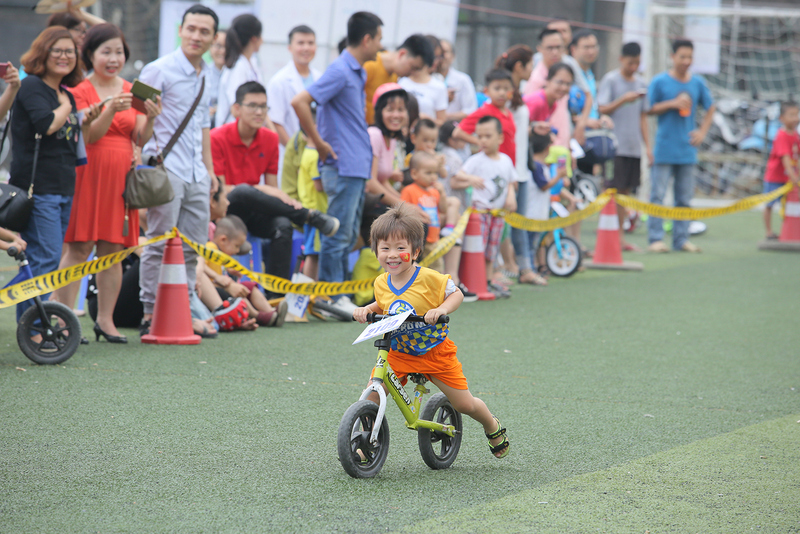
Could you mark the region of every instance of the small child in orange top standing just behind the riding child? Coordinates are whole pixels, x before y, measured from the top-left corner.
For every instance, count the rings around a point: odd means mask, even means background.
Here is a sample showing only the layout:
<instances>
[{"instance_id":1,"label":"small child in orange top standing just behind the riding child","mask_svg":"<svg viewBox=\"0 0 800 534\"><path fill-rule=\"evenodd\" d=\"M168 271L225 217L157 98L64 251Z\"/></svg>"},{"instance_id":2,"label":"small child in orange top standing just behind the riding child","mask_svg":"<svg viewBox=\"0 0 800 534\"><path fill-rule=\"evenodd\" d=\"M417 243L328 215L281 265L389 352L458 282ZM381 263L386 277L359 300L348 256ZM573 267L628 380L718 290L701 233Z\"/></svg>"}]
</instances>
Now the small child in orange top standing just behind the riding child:
<instances>
[{"instance_id":1,"label":"small child in orange top standing just behind the riding child","mask_svg":"<svg viewBox=\"0 0 800 534\"><path fill-rule=\"evenodd\" d=\"M439 181L439 160L430 152L418 150L409 162L409 170L413 184L409 184L400 192L403 202L419 207L428 216L428 237L425 240L425 256L430 254L439 241L441 232L441 215L447 212L447 194ZM441 214L441 215L440 215ZM439 258L430 268L444 272L444 261Z\"/></svg>"}]
</instances>

